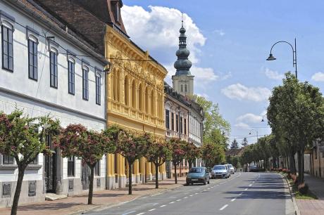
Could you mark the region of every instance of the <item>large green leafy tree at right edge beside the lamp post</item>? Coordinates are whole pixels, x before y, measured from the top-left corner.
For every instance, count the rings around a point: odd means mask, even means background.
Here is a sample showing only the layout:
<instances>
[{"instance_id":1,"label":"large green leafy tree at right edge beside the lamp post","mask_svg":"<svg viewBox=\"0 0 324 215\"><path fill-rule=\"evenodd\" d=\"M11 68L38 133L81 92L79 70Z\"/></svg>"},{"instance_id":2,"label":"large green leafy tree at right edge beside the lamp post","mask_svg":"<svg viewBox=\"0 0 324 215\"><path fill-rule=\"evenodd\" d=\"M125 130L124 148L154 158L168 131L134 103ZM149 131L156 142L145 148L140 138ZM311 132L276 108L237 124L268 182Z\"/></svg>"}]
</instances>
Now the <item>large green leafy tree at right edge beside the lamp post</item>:
<instances>
[{"instance_id":1,"label":"large green leafy tree at right edge beside the lamp post","mask_svg":"<svg viewBox=\"0 0 324 215\"><path fill-rule=\"evenodd\" d=\"M290 155L290 168L297 152L299 183L304 183L304 151L316 138L323 137L323 97L317 87L298 82L290 72L282 86L276 86L270 96L268 124Z\"/></svg>"}]
</instances>

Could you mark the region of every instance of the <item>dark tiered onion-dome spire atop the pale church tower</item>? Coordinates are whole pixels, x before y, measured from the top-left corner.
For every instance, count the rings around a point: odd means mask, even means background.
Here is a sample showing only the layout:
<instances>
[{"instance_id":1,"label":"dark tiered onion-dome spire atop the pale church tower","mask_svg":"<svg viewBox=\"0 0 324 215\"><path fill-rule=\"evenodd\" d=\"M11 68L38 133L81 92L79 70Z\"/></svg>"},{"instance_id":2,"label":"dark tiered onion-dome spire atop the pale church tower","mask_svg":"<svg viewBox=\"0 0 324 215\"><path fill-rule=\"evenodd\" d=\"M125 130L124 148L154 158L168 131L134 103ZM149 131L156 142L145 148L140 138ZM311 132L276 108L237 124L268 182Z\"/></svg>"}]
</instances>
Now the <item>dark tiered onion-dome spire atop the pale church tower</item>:
<instances>
[{"instance_id":1,"label":"dark tiered onion-dome spire atop the pale church tower","mask_svg":"<svg viewBox=\"0 0 324 215\"><path fill-rule=\"evenodd\" d=\"M187 36L185 34L186 30L183 27L183 13L182 13L182 26L180 28L180 37L179 37L179 49L175 53L177 56L177 61L175 61L174 67L177 70L175 75L187 74L191 75L190 67L192 67L192 63L188 60L188 56L190 51L187 49Z\"/></svg>"}]
</instances>

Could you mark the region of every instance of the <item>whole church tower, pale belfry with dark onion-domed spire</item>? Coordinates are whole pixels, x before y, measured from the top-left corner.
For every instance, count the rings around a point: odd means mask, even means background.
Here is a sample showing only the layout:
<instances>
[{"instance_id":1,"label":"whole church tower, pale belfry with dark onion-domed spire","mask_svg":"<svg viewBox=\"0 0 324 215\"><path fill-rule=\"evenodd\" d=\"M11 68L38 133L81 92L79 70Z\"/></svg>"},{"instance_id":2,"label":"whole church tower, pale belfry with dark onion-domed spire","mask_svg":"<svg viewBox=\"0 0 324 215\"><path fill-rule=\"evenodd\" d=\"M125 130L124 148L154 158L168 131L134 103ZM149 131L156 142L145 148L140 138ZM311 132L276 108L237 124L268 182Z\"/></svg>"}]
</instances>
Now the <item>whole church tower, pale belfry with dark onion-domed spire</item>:
<instances>
[{"instance_id":1,"label":"whole church tower, pale belfry with dark onion-domed spire","mask_svg":"<svg viewBox=\"0 0 324 215\"><path fill-rule=\"evenodd\" d=\"M187 37L185 27L180 28L179 49L175 53L177 61L174 67L177 70L172 76L173 89L182 96L192 96L194 94L194 76L190 73L192 63L188 60L190 51L187 49Z\"/></svg>"}]
</instances>

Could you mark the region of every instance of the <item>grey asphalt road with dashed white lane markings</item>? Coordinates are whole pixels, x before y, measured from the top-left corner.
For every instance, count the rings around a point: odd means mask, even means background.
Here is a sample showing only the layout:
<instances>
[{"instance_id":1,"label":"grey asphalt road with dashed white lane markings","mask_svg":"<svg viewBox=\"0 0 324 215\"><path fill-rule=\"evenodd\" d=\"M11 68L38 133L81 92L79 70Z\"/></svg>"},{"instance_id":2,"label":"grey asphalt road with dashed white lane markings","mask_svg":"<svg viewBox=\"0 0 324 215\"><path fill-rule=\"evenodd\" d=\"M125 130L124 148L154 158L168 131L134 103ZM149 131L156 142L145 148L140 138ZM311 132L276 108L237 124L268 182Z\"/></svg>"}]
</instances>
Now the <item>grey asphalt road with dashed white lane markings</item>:
<instances>
[{"instance_id":1,"label":"grey asphalt road with dashed white lane markings","mask_svg":"<svg viewBox=\"0 0 324 215\"><path fill-rule=\"evenodd\" d=\"M284 178L272 173L235 173L209 185L189 185L140 197L87 214L294 214Z\"/></svg>"}]
</instances>

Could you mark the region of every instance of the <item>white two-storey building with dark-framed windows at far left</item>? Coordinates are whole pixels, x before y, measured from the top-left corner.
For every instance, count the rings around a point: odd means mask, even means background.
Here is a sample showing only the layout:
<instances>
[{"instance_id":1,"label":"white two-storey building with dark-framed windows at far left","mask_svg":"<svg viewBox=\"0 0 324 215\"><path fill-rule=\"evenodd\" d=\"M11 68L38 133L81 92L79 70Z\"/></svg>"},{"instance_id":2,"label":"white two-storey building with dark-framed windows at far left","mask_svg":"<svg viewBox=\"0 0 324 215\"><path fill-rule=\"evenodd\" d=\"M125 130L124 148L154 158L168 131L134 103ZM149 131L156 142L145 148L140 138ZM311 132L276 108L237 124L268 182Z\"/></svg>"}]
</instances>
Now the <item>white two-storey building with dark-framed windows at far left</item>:
<instances>
[{"instance_id":1,"label":"white two-storey building with dark-framed windows at far left","mask_svg":"<svg viewBox=\"0 0 324 215\"><path fill-rule=\"evenodd\" d=\"M0 111L10 113L18 107L30 117L51 115L63 127L105 128L103 71L108 62L100 53L32 1L0 1L0 25ZM27 167L20 203L44 201L46 193L87 190L89 169L80 159L62 158L51 148L53 157L40 154ZM103 157L96 167L94 190L105 188L105 176ZM17 178L14 159L0 155L0 207L12 204Z\"/></svg>"}]
</instances>

